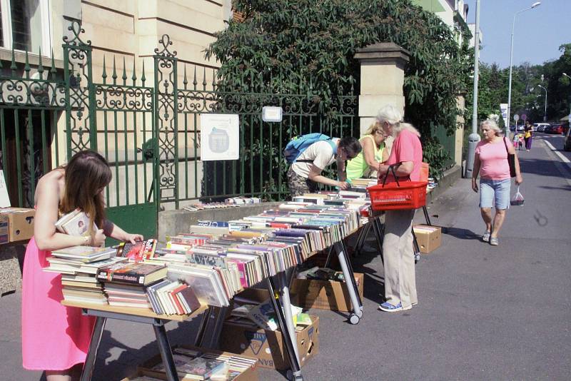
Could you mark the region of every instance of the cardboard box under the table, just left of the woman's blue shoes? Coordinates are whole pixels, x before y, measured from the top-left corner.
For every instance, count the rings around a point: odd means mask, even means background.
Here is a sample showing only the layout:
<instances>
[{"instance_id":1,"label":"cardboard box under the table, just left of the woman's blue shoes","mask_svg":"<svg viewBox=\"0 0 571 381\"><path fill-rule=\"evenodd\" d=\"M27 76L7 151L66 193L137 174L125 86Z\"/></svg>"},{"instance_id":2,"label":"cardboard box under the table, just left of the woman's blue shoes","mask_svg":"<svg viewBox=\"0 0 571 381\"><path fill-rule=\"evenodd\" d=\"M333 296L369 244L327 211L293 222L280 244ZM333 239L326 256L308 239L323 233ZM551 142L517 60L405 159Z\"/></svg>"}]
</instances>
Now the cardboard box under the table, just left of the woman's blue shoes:
<instances>
[{"instance_id":1,"label":"cardboard box under the table, just left of the woman's blue shoes","mask_svg":"<svg viewBox=\"0 0 571 381\"><path fill-rule=\"evenodd\" d=\"M357 289L363 300L364 275L354 273ZM294 279L290 288L291 303L303 308L319 310L353 311L345 282L335 280Z\"/></svg>"}]
</instances>

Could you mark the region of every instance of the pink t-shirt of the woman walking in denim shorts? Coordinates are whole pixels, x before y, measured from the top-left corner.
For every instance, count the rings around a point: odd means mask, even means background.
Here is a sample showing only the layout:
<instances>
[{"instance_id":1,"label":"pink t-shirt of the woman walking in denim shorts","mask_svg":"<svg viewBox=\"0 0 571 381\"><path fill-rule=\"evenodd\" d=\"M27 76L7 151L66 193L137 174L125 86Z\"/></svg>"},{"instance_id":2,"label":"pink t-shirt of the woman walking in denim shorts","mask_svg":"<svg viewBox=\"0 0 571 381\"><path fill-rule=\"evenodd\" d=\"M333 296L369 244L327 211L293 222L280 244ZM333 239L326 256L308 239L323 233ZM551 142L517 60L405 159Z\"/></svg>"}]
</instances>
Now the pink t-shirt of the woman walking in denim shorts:
<instances>
[{"instance_id":1,"label":"pink t-shirt of the woman walking in denim shorts","mask_svg":"<svg viewBox=\"0 0 571 381\"><path fill-rule=\"evenodd\" d=\"M512 146L509 139L501 138L495 143L480 141L476 146L476 154L480 156L480 178L487 180L505 180L510 178L510 163L507 163L507 151Z\"/></svg>"}]
</instances>

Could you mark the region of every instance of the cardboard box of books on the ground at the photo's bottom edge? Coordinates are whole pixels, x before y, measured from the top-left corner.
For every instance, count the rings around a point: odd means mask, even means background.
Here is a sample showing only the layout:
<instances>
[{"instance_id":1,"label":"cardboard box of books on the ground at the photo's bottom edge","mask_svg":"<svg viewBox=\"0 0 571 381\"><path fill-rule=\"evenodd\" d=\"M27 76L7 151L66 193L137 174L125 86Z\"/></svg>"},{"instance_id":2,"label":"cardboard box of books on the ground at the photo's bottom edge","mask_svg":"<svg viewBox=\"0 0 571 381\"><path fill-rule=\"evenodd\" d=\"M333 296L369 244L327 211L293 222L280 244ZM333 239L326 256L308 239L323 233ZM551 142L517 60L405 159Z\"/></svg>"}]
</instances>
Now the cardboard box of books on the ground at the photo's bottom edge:
<instances>
[{"instance_id":1,"label":"cardboard box of books on the ground at the photo's bottom edge","mask_svg":"<svg viewBox=\"0 0 571 381\"><path fill-rule=\"evenodd\" d=\"M172 350L178 377L181 381L258 381L256 358L189 345L179 345L173 347ZM161 355L156 355L143 362L138 367L136 377L153 377L158 380L166 380ZM128 377L124 380L134 381L137 380L136 377ZM143 380L145 379L143 378L141 381Z\"/></svg>"}]
</instances>

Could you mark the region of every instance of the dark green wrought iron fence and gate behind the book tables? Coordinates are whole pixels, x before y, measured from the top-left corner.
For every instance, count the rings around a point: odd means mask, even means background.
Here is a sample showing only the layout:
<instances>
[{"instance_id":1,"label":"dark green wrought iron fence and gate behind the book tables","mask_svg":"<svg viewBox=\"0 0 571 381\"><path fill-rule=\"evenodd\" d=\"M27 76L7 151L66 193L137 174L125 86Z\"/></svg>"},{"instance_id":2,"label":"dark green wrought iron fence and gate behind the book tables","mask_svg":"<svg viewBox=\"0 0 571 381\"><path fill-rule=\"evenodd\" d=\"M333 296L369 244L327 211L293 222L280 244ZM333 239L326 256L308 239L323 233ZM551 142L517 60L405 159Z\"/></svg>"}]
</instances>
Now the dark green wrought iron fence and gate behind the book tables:
<instances>
[{"instance_id":1,"label":"dark green wrought iron fence and gate behind the book tables","mask_svg":"<svg viewBox=\"0 0 571 381\"><path fill-rule=\"evenodd\" d=\"M113 170L105 193L110 217L138 231L148 220L146 235L154 235L160 205L236 195L283 199L288 166L282 150L295 135L358 136L353 93L338 96L335 112L325 112L311 91L221 91L216 68L197 71L179 61L166 35L152 58L152 86L145 62L134 59L117 64L103 57L95 76L91 42L82 40L79 24L69 31L63 69L53 58L44 63L41 52L34 67L28 52L24 64L16 63L14 51L9 65L0 62L0 165L13 205L33 206L39 178L91 148ZM262 121L263 106L281 106L283 121ZM203 113L238 114L237 161L201 162Z\"/></svg>"}]
</instances>

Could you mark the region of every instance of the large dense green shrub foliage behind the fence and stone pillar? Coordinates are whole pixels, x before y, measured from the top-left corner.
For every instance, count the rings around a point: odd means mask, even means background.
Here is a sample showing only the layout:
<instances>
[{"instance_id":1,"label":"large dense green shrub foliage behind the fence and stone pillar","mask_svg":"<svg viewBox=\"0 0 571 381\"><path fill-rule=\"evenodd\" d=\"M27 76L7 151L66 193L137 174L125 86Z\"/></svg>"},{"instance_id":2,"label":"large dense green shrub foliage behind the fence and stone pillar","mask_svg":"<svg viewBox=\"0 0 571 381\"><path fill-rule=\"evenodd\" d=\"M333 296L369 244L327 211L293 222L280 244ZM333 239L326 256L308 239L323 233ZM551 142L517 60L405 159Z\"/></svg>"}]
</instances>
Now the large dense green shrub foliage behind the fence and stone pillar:
<instances>
[{"instance_id":1,"label":"large dense green shrub foliage behind the fence and stone pillar","mask_svg":"<svg viewBox=\"0 0 571 381\"><path fill-rule=\"evenodd\" d=\"M468 87L470 56L467 44L458 46L438 16L410 0L236 0L234 6L243 21L230 21L206 51L222 64L218 88L278 93L311 88L320 109L335 113L336 96L360 86L355 52L394 42L411 55L405 119L423 133L433 164L443 160L432 132L455 131L456 96Z\"/></svg>"}]
</instances>

